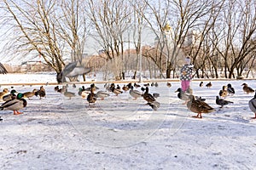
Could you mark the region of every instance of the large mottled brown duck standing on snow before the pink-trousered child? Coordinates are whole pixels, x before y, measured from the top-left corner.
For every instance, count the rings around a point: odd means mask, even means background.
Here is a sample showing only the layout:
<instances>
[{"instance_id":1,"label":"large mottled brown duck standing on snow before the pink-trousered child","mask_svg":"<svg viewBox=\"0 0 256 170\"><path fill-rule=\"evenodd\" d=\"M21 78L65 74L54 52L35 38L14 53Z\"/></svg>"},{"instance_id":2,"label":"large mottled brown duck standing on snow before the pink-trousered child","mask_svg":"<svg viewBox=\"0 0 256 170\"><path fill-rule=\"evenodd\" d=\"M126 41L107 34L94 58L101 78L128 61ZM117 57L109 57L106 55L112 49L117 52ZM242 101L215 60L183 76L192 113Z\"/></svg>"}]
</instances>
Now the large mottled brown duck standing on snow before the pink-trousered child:
<instances>
[{"instance_id":1,"label":"large mottled brown duck standing on snow before the pink-trousered child","mask_svg":"<svg viewBox=\"0 0 256 170\"><path fill-rule=\"evenodd\" d=\"M195 96L190 94L189 95L189 102L187 103L187 107L189 111L197 113L197 116L192 116L195 118L202 118L202 113L210 113L212 111L215 111L210 105L208 105L206 102L201 100L196 100Z\"/></svg>"}]
</instances>

